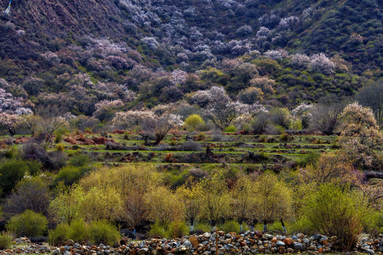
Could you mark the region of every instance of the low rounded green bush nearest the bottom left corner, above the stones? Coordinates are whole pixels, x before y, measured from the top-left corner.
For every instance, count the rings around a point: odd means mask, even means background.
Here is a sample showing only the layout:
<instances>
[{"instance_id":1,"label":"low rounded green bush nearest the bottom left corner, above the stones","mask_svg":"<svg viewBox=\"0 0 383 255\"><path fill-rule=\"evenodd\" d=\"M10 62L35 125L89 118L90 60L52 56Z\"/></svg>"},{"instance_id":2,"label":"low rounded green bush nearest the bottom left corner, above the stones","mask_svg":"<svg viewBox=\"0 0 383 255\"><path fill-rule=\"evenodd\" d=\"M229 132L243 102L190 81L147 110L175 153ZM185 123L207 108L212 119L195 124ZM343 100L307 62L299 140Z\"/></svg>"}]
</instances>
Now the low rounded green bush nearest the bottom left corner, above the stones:
<instances>
[{"instance_id":1,"label":"low rounded green bush nearest the bottom left corner, above the stones","mask_svg":"<svg viewBox=\"0 0 383 255\"><path fill-rule=\"evenodd\" d=\"M48 227L47 218L33 210L26 210L25 212L11 217L6 228L16 233L19 237L39 237Z\"/></svg>"}]
</instances>

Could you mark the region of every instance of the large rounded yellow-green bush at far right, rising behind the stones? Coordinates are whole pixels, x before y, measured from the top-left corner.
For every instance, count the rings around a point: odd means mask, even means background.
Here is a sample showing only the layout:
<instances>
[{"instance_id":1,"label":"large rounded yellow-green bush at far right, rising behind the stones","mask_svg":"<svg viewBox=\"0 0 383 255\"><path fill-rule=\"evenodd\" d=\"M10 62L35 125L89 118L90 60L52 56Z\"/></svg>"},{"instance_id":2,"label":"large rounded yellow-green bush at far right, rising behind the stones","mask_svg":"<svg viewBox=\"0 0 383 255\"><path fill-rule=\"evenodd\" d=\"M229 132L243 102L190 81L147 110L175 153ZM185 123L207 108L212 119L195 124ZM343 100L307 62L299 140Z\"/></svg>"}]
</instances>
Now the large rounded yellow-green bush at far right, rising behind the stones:
<instances>
[{"instance_id":1,"label":"large rounded yellow-green bush at far right, rising behind the stones","mask_svg":"<svg viewBox=\"0 0 383 255\"><path fill-rule=\"evenodd\" d=\"M303 215L313 231L338 237L338 248L350 251L370 221L362 194L350 186L324 183L306 200Z\"/></svg>"}]
</instances>

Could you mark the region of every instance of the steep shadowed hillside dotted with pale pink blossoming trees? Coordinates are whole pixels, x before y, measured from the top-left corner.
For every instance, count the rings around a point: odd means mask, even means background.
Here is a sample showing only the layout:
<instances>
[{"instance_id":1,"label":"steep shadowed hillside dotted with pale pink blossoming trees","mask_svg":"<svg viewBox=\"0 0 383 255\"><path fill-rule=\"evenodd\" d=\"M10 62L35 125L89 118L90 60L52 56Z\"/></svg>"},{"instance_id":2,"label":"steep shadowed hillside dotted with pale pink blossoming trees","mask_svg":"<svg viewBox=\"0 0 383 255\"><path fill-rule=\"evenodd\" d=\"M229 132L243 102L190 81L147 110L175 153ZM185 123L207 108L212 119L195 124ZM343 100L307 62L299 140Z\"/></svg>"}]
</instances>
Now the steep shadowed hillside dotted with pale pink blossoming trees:
<instances>
[{"instance_id":1,"label":"steep shadowed hillside dotted with pale pink blossoming trees","mask_svg":"<svg viewBox=\"0 0 383 255\"><path fill-rule=\"evenodd\" d=\"M1 88L38 104L82 86L94 104L118 87L135 94L129 108L255 86L257 100L292 107L379 79L382 28L379 0L18 0L0 19Z\"/></svg>"}]
</instances>

